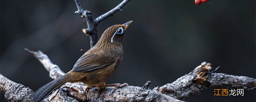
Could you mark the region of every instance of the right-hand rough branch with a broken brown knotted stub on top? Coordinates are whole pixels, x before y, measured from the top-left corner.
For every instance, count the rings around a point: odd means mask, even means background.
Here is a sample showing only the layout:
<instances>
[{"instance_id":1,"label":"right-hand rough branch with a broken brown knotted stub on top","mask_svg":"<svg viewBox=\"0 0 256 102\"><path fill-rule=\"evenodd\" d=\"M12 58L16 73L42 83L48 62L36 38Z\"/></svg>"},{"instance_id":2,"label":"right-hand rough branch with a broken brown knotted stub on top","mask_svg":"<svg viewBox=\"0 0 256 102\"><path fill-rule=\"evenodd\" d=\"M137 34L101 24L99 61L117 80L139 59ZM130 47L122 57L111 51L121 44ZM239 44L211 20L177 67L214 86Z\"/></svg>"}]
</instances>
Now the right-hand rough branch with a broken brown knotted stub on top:
<instances>
[{"instance_id":1,"label":"right-hand rough branch with a broken brown knotted stub on top","mask_svg":"<svg viewBox=\"0 0 256 102\"><path fill-rule=\"evenodd\" d=\"M230 87L254 89L256 79L244 76L226 75L223 73L209 73L211 63L203 62L188 75L178 78L171 84L156 87L153 90L164 93L176 99L186 99L210 87Z\"/></svg>"}]
</instances>

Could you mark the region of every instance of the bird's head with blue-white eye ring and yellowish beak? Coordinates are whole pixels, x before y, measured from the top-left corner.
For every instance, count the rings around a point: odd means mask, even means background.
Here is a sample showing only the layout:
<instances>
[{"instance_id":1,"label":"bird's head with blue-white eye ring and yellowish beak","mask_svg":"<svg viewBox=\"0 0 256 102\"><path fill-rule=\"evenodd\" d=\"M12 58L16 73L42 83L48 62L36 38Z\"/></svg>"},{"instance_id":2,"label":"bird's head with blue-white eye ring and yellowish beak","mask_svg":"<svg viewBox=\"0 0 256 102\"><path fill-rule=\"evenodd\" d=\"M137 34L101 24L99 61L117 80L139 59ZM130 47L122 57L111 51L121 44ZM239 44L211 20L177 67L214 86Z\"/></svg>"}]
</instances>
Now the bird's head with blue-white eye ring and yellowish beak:
<instances>
[{"instance_id":1,"label":"bird's head with blue-white eye ring and yellowish beak","mask_svg":"<svg viewBox=\"0 0 256 102\"><path fill-rule=\"evenodd\" d=\"M108 43L110 45L122 44L124 31L131 23L132 21L129 21L121 25L110 26L108 29L104 31L98 42Z\"/></svg>"}]
</instances>

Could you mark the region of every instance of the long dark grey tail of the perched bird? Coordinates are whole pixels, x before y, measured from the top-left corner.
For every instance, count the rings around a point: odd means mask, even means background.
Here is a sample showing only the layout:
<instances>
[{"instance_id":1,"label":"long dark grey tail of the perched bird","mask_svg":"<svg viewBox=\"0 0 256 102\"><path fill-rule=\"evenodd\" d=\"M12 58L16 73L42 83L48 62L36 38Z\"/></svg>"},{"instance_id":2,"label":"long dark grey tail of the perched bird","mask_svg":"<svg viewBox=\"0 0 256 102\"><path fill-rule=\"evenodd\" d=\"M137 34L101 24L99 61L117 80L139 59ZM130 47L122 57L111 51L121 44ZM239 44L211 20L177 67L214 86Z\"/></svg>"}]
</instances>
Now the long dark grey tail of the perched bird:
<instances>
[{"instance_id":1,"label":"long dark grey tail of the perched bird","mask_svg":"<svg viewBox=\"0 0 256 102\"><path fill-rule=\"evenodd\" d=\"M40 87L33 95L33 100L36 102L42 101L47 97L52 91L59 88L61 85L68 82L67 74L53 80L52 82Z\"/></svg>"}]
</instances>

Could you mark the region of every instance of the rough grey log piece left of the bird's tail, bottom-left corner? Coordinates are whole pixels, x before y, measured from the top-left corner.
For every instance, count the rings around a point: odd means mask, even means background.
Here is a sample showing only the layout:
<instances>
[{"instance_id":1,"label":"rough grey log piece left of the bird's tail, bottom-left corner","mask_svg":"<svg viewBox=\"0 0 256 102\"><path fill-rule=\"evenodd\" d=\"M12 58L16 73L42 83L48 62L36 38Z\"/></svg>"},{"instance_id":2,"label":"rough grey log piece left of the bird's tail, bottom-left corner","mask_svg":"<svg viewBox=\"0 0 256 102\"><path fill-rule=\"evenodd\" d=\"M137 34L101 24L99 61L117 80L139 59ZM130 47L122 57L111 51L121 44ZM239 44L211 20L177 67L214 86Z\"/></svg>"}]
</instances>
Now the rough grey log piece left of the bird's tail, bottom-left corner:
<instances>
[{"instance_id":1,"label":"rough grey log piece left of the bird's tail, bottom-left corner","mask_svg":"<svg viewBox=\"0 0 256 102\"><path fill-rule=\"evenodd\" d=\"M9 102L30 102L34 92L22 84L17 84L0 73L0 91Z\"/></svg>"}]
</instances>

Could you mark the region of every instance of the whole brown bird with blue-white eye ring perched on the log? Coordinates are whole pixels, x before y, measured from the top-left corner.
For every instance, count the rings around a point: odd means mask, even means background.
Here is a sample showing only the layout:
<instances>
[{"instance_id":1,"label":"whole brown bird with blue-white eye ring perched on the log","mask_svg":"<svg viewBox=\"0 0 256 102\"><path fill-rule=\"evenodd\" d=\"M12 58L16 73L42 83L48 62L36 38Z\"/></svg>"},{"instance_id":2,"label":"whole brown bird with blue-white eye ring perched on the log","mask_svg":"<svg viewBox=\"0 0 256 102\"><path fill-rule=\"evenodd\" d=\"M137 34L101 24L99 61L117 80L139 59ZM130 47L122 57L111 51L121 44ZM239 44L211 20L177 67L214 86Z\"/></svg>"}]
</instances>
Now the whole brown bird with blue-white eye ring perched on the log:
<instances>
[{"instance_id":1,"label":"whole brown bird with blue-white eye ring perched on the log","mask_svg":"<svg viewBox=\"0 0 256 102\"><path fill-rule=\"evenodd\" d=\"M72 70L39 88L34 93L33 100L42 101L52 91L67 82L82 82L87 85L86 90L92 87L101 89L128 86L126 83L105 84L105 82L123 59L122 40L124 31L131 23L132 21L129 21L123 25L113 25L106 29L98 43L77 60Z\"/></svg>"}]
</instances>

